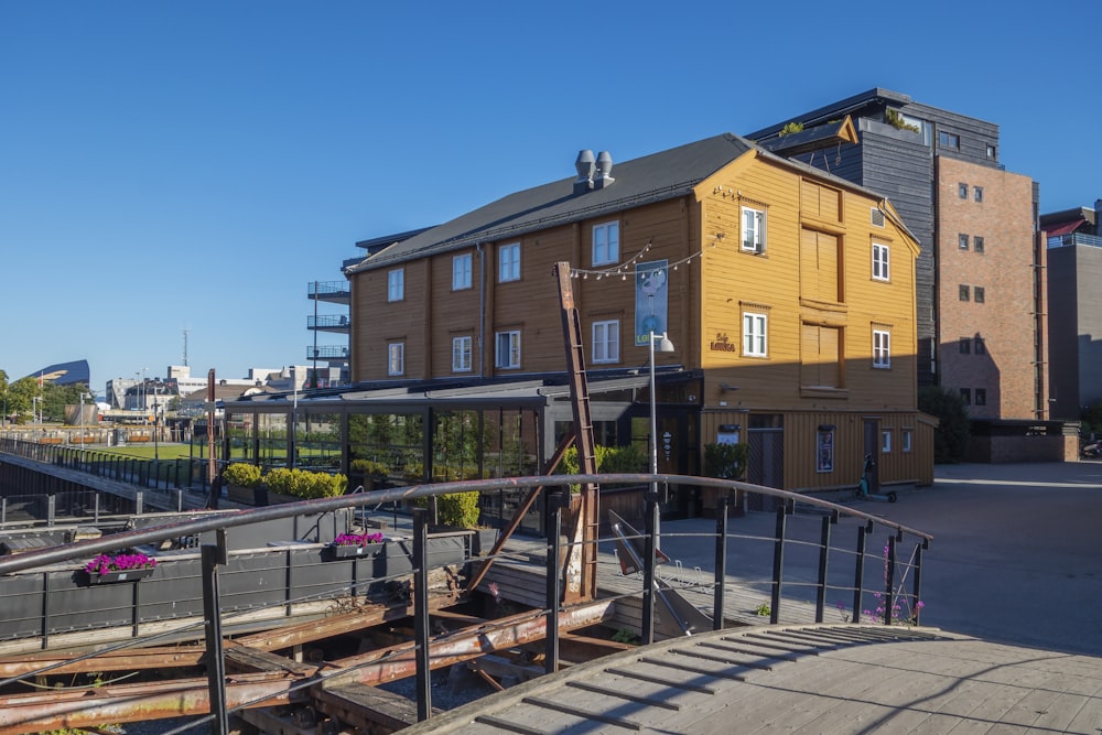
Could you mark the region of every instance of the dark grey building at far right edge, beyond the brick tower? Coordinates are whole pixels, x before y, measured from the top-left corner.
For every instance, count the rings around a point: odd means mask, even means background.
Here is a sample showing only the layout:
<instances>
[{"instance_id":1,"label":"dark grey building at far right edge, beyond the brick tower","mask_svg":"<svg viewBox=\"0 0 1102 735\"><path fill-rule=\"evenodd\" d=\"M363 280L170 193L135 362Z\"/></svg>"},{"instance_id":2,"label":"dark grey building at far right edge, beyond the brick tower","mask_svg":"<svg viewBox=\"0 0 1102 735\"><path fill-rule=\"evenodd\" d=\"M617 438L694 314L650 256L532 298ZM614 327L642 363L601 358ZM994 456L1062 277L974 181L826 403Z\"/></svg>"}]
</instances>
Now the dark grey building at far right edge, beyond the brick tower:
<instances>
[{"instance_id":1,"label":"dark grey building at far right edge, beyond the brick tower","mask_svg":"<svg viewBox=\"0 0 1102 735\"><path fill-rule=\"evenodd\" d=\"M1041 215L1048 238L1052 413L1078 420L1102 401L1102 199Z\"/></svg>"}]
</instances>

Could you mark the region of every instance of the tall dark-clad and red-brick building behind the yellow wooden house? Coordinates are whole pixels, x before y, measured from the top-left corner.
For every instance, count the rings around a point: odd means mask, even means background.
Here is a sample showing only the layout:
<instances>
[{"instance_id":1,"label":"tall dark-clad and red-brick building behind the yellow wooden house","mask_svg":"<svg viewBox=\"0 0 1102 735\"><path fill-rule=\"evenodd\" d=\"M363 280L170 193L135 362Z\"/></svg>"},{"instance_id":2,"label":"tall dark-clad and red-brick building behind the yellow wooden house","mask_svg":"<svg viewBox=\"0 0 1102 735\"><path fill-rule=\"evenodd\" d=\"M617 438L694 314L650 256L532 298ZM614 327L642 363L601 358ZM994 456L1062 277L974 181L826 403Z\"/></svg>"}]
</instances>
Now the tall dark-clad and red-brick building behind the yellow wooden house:
<instances>
[{"instance_id":1,"label":"tall dark-clad and red-brick building behind the yellow wooden house","mask_svg":"<svg viewBox=\"0 0 1102 735\"><path fill-rule=\"evenodd\" d=\"M846 115L856 145L815 144ZM919 386L960 391L976 420L1048 417L1038 187L1000 163L997 125L876 88L747 137L890 197L921 245Z\"/></svg>"}]
</instances>

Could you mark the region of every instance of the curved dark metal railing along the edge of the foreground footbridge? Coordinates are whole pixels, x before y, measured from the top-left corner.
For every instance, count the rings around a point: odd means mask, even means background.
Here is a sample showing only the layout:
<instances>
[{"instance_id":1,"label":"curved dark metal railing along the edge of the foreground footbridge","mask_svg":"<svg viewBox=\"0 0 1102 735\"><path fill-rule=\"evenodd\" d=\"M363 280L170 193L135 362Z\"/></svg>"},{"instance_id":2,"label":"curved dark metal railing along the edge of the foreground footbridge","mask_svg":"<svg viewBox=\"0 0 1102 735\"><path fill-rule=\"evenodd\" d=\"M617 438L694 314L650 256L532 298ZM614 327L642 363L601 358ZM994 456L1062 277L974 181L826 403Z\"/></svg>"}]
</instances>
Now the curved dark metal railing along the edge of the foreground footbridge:
<instances>
[{"instance_id":1,"label":"curved dark metal railing along the edge of the foreground footbridge","mask_svg":"<svg viewBox=\"0 0 1102 735\"><path fill-rule=\"evenodd\" d=\"M769 571L760 575L759 587L768 594L768 602L757 612L763 617L767 616L771 623L778 623L788 610L799 612L809 608L809 603L813 601L814 619L822 621L827 613L828 598L831 594L842 594L852 602L852 621L875 617L884 624L910 623L917 624L919 610L921 609L921 571L922 551L928 548L931 536L921 531L895 523L893 521L865 514L861 510L835 505L818 498L793 494L775 488L760 487L734 480L721 480L704 477L688 477L680 475L555 475L541 477L512 477L501 479L479 479L454 483L440 483L432 485L419 485L403 488L381 489L370 493L355 493L336 498L323 498L315 500L304 500L301 502L288 504L258 508L256 510L234 512L228 515L205 516L201 518L177 520L168 526L145 528L141 530L126 531L110 537L78 541L76 543L53 547L48 549L31 551L15 556L0 558L0 575L37 570L50 564L72 563L78 560L86 560L95 554L117 552L120 549L133 548L142 544L154 544L182 536L197 536L199 533L214 532L217 534L217 543L205 543L201 549L202 556L202 579L203 579L203 617L209 623L206 625L205 638L207 651L209 651L207 667L207 692L204 695L209 702L210 714L201 717L203 723L213 723L212 732L228 732L228 715L250 706L261 706L264 702L270 702L273 698L289 696L290 693L298 692L299 696L305 695L305 690L325 681L331 675L342 678L355 678L361 667L369 666L359 659L349 659L347 667L326 667L312 673L303 674L299 678L288 679L287 677L263 679L255 681L248 685L230 682L227 684L225 675L225 664L222 648L222 620L224 617L223 604L219 595L218 576L219 568L226 569L234 563L233 558L227 553L226 532L236 527L256 523L267 520L292 518L304 514L326 514L336 512L344 508L366 509L379 504L410 504L423 498L430 498L443 494L480 491L496 493L504 489L527 490L531 493L543 488L543 511L545 519L547 539L555 540L552 543L544 542L547 580L547 596L542 609L533 610L533 615L543 618L545 626L544 641L547 646L545 668L548 672L558 670L559 666L559 626L560 618L570 614L571 606L564 607L562 604L563 576L563 549L558 542L561 539L560 532L563 526L563 512L569 507L569 487L571 485L585 484L618 484L618 485L658 485L673 484L682 488L699 488L717 491L719 507L714 532L700 534L700 538L689 539L688 542L693 548L699 549L705 543L705 538L711 538L714 544L714 569L709 571L698 568L691 574L682 574L683 570L674 574L662 577L658 573L659 556L659 529L658 496L648 493L645 498L647 519L646 530L639 534L636 532L625 532L620 527L615 539L603 539L598 543L617 543L619 549L642 549L638 554L641 559L641 586L638 590L624 592L619 597L639 597L642 601L642 623L640 631L644 642L653 640L655 610L656 605L666 603L668 593L671 590L683 590L696 594L710 594L711 605L699 606L702 615L704 609L711 610L711 625L715 629L722 628L727 621L727 595L733 590L733 582L727 573L727 559L734 551L732 543L738 547L747 544L764 544L765 552L758 556L758 565L765 566ZM756 516L753 520L754 529L748 529L748 533L732 533L731 519L727 509L733 498L738 493L749 493L771 498L776 509L771 514ZM765 505L765 504L763 504ZM771 532L768 531L768 521L773 518ZM855 533L852 547L839 543L842 530L845 528ZM430 636L429 623L429 584L426 581L430 558L426 551L428 540L428 518L423 509L415 508L412 511L412 552L410 554L410 569L414 575L413 610L414 610L414 652L415 652L415 675L418 678L418 713L419 718L429 717L431 712L431 690L428 685L429 670L433 661L430 660L429 649L435 645L437 647L449 646L451 638L433 640ZM765 529L765 530L763 530ZM871 551L868 540L873 538L876 529L886 532L883 553L879 550ZM634 531L634 529L630 529ZM679 534L665 533L661 536L670 547L677 542ZM209 537L208 537L209 538ZM908 550L905 545L912 544ZM626 544L626 545L625 545ZM501 544L496 547L500 550ZM741 552L745 553L745 552ZM749 559L750 555L739 556ZM791 559L802 558L803 563L800 572L793 572ZM842 558L851 564L842 566L838 563ZM877 564L874 565L869 561ZM483 577L485 566L493 564L493 559L477 562L484 565L479 570L478 579ZM808 574L808 569L814 569L814 574ZM160 571L160 570L159 570ZM743 570L745 571L745 570ZM868 577L872 575L873 581ZM620 575L630 577L630 575ZM623 582L624 580L622 580ZM627 580L630 582L630 579ZM745 582L750 586L754 580ZM136 585L139 583L134 583ZM473 591L467 591L473 592ZM137 596L137 592L134 593ZM353 591L355 594L355 591ZM795 596L796 604L790 604L790 596ZM802 597L802 599L800 599ZM875 603L869 603L869 599ZM279 604L287 605L287 601ZM871 607L869 605L874 605ZM576 607L576 606L575 606ZM900 610L906 609L905 615ZM575 615L577 615L575 613ZM706 618L706 615L705 615ZM526 618L527 619L527 618ZM576 619L576 618L575 618ZM491 635L494 621L487 626L479 627L479 636ZM516 626L517 620L510 618L509 626ZM137 626L136 626L137 631ZM688 630L685 630L688 633ZM148 640L143 642L148 645ZM480 647L472 652L467 658L476 658L487 651ZM117 650L117 649L111 649ZM435 655L435 650L434 650ZM454 657L452 657L454 658ZM339 663L339 662L338 662ZM377 662L371 663L374 666ZM332 662L331 662L332 664ZM51 670L50 666L26 672L19 677L0 681L0 689L13 683L17 680L31 679L36 675L46 674ZM168 696L169 694L165 694ZM182 698L183 694L172 694ZM63 707L56 705L35 705L35 713L42 713L45 707ZM141 714L142 701L136 698L132 702L134 718L148 716ZM111 710L98 710L91 703L85 701L79 710L79 715L73 711L65 711L71 717L68 724L78 726L79 722L94 723L97 717L105 717L110 712L110 717L121 717L118 706ZM18 728L33 724L35 728L43 722L41 720L29 718L30 715L21 714L21 710L10 701L6 706L0 707L0 733L19 732ZM125 714L125 713L123 713ZM20 717L24 720L20 721ZM83 717L84 720L79 720ZM77 722L79 720L79 722ZM106 720L104 720L106 721ZM183 729L173 732L185 732L191 725Z\"/></svg>"}]
</instances>

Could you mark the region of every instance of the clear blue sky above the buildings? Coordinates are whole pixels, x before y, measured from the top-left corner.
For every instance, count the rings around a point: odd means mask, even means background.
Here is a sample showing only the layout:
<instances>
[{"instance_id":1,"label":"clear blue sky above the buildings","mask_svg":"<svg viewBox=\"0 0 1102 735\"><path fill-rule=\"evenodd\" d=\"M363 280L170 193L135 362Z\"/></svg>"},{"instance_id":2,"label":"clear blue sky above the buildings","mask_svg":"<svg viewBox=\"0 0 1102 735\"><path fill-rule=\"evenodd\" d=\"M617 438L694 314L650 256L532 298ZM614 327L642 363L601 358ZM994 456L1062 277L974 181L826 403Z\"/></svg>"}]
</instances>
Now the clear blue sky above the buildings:
<instances>
[{"instance_id":1,"label":"clear blue sky above the buildings","mask_svg":"<svg viewBox=\"0 0 1102 735\"><path fill-rule=\"evenodd\" d=\"M873 87L1102 197L1102 3L804 7L0 0L0 369L305 365L357 240Z\"/></svg>"}]
</instances>

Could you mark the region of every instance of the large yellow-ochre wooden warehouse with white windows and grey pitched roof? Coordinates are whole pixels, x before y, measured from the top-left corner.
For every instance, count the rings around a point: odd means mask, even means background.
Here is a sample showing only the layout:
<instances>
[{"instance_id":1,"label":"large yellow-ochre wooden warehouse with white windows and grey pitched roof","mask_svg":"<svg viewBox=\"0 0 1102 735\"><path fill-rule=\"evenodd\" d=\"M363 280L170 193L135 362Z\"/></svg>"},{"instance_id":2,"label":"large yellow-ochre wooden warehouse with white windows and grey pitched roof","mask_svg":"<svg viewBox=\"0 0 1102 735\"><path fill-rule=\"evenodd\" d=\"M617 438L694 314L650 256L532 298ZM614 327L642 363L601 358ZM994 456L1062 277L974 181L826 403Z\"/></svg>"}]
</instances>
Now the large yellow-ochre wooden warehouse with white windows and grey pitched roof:
<instances>
[{"instance_id":1,"label":"large yellow-ochre wooden warehouse with white windows and grey pitched roof","mask_svg":"<svg viewBox=\"0 0 1102 735\"><path fill-rule=\"evenodd\" d=\"M565 261L591 380L645 376L651 331L676 345L657 360L660 472L699 474L705 444L737 441L774 487L853 487L867 454L880 483L932 482L918 247L888 202L733 134L575 167L348 268L353 382L553 380ZM598 443L647 441L649 391L611 414Z\"/></svg>"}]
</instances>

